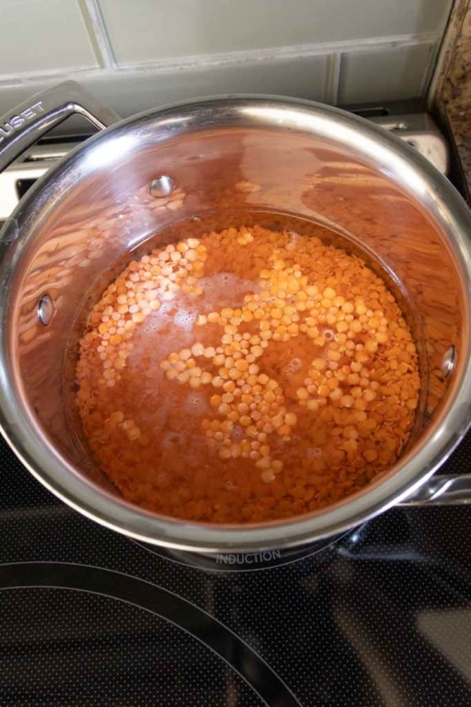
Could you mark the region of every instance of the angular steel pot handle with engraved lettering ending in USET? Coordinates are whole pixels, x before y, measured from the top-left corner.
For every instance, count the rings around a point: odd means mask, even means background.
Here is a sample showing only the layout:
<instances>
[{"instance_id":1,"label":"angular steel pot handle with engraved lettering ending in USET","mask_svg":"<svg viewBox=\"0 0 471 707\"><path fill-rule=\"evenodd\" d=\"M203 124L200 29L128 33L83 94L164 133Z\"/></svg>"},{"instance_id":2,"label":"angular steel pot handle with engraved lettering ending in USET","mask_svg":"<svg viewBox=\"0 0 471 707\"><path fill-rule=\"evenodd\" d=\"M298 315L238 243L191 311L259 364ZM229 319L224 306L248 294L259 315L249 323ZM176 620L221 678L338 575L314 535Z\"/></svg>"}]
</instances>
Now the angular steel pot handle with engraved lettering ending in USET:
<instances>
[{"instance_id":1,"label":"angular steel pot handle with engraved lettering ending in USET","mask_svg":"<svg viewBox=\"0 0 471 707\"><path fill-rule=\"evenodd\" d=\"M103 129L121 117L75 81L64 81L28 98L0 117L0 172L57 124L78 113Z\"/></svg>"}]
</instances>

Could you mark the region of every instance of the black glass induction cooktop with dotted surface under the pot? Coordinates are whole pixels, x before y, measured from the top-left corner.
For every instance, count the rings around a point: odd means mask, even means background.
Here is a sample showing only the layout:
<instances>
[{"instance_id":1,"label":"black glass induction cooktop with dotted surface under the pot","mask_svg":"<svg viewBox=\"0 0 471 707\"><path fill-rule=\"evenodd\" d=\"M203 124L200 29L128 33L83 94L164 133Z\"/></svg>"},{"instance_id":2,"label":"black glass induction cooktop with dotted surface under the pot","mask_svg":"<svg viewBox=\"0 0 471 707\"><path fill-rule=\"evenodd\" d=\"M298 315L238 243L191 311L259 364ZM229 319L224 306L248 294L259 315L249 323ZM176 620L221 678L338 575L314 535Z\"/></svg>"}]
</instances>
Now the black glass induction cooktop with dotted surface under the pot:
<instances>
[{"instance_id":1,"label":"black glass induction cooktop with dotted surface under the pot","mask_svg":"<svg viewBox=\"0 0 471 707\"><path fill-rule=\"evenodd\" d=\"M1 707L471 704L471 506L211 558L100 527L0 459ZM470 459L468 435L443 471Z\"/></svg>"}]
</instances>

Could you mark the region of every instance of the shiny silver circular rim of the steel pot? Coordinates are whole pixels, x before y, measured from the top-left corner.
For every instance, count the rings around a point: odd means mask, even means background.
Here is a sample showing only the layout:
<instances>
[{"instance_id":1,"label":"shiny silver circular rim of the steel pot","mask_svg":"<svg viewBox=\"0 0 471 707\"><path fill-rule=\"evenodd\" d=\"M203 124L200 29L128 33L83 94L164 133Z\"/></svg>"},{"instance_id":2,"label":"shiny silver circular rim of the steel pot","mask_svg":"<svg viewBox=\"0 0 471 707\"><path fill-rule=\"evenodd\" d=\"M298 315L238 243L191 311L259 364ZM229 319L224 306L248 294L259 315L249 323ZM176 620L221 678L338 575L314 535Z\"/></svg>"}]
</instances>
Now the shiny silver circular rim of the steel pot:
<instances>
[{"instance_id":1,"label":"shiny silver circular rim of the steel pot","mask_svg":"<svg viewBox=\"0 0 471 707\"><path fill-rule=\"evenodd\" d=\"M335 107L308 100L267 95L230 95L184 101L131 116L112 125L78 146L44 175L26 194L0 233L4 256L0 264L3 297L0 298L0 430L13 451L33 476L62 501L88 518L134 539L189 551L254 551L294 547L319 537L343 532L386 510L415 491L451 454L471 423L471 367L463 365L452 380L446 405L427 428L424 443L408 452L387 476L374 481L352 496L321 511L290 520L256 525L219 525L189 522L149 513L113 496L81 477L59 452L47 445L37 422L15 395L14 366L6 337L8 293L21 253L34 237L37 219L51 206L47 195L54 193L59 176L83 165L86 153L113 137L129 134L131 127L143 131L168 129L172 138L187 132L188 124L198 124L203 113L217 114L219 124L269 127L277 121L285 129L310 132L345 146L388 172L393 182L414 195L427 209L448 240L456 267L463 276L465 307L471 306L471 211L446 177L425 158L397 137L358 116ZM181 121L182 113L188 122ZM214 120L214 116L213 116ZM82 160L82 161L81 161ZM52 206L54 206L52 204ZM26 231L27 235L20 235ZM460 351L461 361L470 361L471 341ZM18 380L18 379L17 379Z\"/></svg>"}]
</instances>

